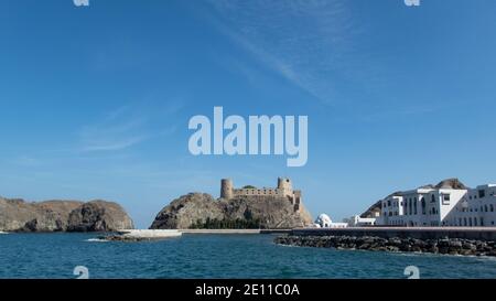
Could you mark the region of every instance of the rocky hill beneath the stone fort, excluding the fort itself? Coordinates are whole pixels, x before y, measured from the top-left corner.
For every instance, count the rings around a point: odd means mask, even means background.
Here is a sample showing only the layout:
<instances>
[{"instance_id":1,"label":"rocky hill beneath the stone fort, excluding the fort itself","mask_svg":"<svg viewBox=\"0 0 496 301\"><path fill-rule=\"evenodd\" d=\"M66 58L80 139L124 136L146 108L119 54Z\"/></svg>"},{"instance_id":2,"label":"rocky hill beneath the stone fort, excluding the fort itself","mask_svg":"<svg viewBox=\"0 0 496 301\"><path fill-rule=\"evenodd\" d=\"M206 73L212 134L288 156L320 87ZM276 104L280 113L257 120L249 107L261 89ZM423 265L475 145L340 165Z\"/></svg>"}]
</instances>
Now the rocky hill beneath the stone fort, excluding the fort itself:
<instances>
[{"instance_id":1,"label":"rocky hill beneath the stone fort, excluding the fort itself","mask_svg":"<svg viewBox=\"0 0 496 301\"><path fill-rule=\"evenodd\" d=\"M257 228L294 228L312 224L312 217L303 205L294 212L287 197L242 196L226 201L214 200L209 194L191 193L165 206L150 228L191 228L207 221Z\"/></svg>"}]
</instances>

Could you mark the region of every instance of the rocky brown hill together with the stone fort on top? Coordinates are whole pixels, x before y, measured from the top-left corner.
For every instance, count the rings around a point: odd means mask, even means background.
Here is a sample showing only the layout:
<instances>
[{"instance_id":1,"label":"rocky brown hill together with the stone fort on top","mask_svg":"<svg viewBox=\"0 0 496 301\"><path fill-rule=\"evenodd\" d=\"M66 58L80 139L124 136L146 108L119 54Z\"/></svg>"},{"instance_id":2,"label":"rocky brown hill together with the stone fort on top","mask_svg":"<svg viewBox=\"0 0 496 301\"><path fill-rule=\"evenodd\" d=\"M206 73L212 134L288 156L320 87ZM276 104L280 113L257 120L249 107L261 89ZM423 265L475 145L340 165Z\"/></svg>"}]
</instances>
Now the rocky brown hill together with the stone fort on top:
<instances>
[{"instance_id":1,"label":"rocky brown hill together with the stone fort on top","mask_svg":"<svg viewBox=\"0 0 496 301\"><path fill-rule=\"evenodd\" d=\"M277 187L235 189L220 181L220 197L190 193L173 200L155 217L152 229L263 228L288 229L312 225L312 216L293 190L290 179L279 178Z\"/></svg>"}]
</instances>

